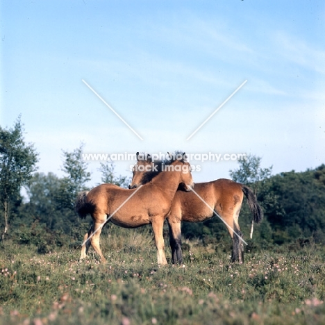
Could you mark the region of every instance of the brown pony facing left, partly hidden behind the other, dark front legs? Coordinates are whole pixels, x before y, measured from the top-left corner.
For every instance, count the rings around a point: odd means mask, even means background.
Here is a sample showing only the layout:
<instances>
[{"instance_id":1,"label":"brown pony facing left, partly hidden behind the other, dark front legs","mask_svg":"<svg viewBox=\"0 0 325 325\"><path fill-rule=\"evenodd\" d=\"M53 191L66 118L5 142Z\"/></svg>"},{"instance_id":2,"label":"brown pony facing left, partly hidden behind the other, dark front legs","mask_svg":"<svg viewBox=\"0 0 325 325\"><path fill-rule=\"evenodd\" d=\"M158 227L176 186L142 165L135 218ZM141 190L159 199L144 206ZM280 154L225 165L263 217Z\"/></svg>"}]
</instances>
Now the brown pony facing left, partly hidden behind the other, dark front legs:
<instances>
[{"instance_id":1,"label":"brown pony facing left, partly hidden behind the other, dark front legs","mask_svg":"<svg viewBox=\"0 0 325 325\"><path fill-rule=\"evenodd\" d=\"M137 153L137 160L128 188L137 188L141 184L152 181L162 165L161 162L153 163L150 155L147 156L147 159L139 159ZM178 188L167 216L172 263L183 263L181 222L203 222L214 215L218 215L226 224L233 240L232 261L244 263L244 245L238 224L244 195L247 197L249 208L253 214L253 221L260 222L263 211L258 205L253 191L245 185L221 178L208 183L195 183L191 192L185 192L181 187Z\"/></svg>"}]
</instances>

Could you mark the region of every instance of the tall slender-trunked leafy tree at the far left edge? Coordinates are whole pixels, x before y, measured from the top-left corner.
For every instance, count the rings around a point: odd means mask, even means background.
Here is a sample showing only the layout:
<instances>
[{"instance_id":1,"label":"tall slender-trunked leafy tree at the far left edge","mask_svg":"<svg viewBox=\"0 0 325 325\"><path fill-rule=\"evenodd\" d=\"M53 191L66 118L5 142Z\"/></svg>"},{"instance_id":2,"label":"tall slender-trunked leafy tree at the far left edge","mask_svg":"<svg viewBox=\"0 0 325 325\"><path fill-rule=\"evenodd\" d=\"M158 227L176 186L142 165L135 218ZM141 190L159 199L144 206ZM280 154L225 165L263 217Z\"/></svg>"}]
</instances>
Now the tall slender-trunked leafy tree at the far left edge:
<instances>
[{"instance_id":1,"label":"tall slender-trunked leafy tree at the far left edge","mask_svg":"<svg viewBox=\"0 0 325 325\"><path fill-rule=\"evenodd\" d=\"M37 169L38 153L33 144L25 142L23 133L20 117L9 130L0 126L0 201L4 217L2 240L8 233L10 201L19 197L22 186L27 185Z\"/></svg>"}]
</instances>

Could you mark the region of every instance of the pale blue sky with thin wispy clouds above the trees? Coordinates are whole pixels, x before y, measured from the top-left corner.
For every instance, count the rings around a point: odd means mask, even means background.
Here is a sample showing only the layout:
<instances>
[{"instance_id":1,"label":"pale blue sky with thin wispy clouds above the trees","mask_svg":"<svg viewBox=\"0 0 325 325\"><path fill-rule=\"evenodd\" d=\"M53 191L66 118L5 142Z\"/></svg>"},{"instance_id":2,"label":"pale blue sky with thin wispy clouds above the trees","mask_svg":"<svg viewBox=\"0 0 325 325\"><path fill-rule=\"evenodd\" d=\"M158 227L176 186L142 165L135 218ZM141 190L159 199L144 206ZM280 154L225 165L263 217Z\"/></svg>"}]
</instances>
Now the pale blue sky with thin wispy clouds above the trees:
<instances>
[{"instance_id":1,"label":"pale blue sky with thin wispy clouds above the trees","mask_svg":"<svg viewBox=\"0 0 325 325\"><path fill-rule=\"evenodd\" d=\"M82 143L84 153L246 153L273 174L325 163L324 1L3 0L0 10L0 124L21 116L38 172L63 176L63 151ZM100 162L89 161L93 184ZM115 172L131 176L134 163L115 161ZM197 182L239 167L191 163Z\"/></svg>"}]
</instances>

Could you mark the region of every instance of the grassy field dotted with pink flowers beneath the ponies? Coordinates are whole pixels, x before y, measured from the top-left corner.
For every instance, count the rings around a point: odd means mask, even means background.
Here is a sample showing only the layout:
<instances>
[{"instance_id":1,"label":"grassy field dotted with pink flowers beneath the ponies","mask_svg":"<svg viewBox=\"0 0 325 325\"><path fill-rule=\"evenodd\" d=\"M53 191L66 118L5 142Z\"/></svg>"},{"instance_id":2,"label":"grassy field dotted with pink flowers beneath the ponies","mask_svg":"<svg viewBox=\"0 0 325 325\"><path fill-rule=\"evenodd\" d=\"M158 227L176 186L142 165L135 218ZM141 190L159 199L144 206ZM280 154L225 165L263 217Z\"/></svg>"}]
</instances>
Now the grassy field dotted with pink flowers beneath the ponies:
<instances>
[{"instance_id":1,"label":"grassy field dotted with pink flowers beneath the ponies","mask_svg":"<svg viewBox=\"0 0 325 325\"><path fill-rule=\"evenodd\" d=\"M118 228L101 247L105 265L93 251L79 263L80 249L1 243L0 325L325 324L325 253L313 244L247 251L239 265L193 241L184 265L164 267L146 228Z\"/></svg>"}]
</instances>

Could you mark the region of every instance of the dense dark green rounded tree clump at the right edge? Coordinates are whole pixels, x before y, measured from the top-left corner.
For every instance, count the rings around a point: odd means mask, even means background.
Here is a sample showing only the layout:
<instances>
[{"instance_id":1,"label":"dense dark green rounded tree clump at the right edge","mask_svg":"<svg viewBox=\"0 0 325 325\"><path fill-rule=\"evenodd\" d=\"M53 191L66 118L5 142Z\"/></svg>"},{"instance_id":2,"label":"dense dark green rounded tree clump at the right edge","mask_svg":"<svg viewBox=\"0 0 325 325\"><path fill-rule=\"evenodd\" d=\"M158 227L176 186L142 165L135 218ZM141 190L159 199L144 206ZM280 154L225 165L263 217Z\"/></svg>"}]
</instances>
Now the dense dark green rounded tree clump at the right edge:
<instances>
[{"instance_id":1,"label":"dense dark green rounded tree clump at the right edge","mask_svg":"<svg viewBox=\"0 0 325 325\"><path fill-rule=\"evenodd\" d=\"M325 233L325 184L319 182L319 169L281 173L265 182L259 199L274 229L274 242Z\"/></svg>"}]
</instances>

